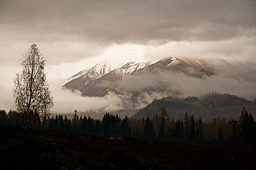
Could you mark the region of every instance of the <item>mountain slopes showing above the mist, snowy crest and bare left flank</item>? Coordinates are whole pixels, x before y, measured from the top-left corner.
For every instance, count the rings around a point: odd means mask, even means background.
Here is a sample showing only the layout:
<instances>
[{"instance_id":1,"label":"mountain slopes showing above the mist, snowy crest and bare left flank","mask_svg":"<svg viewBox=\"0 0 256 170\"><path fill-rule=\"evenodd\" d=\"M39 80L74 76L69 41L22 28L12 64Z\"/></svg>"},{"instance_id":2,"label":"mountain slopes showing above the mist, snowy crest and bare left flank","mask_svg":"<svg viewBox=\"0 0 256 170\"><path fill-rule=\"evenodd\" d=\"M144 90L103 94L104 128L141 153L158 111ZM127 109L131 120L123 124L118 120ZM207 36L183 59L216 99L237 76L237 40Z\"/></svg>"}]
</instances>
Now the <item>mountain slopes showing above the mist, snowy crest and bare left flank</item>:
<instances>
[{"instance_id":1,"label":"mountain slopes showing above the mist, snowy crest and bare left flank","mask_svg":"<svg viewBox=\"0 0 256 170\"><path fill-rule=\"evenodd\" d=\"M256 72L239 62L231 62L218 57L192 59L170 56L153 64L150 62L115 62L113 64L113 61L106 60L73 75L69 78L71 81L63 86L72 91L81 91L82 96L104 96L110 91L120 93L117 83L122 80L123 75L144 77L144 75L158 74L160 78L164 74L173 73L182 73L201 79L214 75L225 75L226 77L243 77L247 80L256 81Z\"/></svg>"}]
</instances>

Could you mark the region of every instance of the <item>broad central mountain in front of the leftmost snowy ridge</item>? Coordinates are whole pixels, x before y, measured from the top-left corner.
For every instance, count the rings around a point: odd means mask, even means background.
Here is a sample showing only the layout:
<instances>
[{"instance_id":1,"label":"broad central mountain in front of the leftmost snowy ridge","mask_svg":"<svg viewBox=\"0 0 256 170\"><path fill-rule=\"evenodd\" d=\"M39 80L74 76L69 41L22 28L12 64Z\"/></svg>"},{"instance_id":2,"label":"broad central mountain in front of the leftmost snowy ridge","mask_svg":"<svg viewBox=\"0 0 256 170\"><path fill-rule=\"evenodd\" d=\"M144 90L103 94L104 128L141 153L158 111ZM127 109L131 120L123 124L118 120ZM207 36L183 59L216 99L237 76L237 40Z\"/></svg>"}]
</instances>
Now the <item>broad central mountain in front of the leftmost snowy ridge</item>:
<instances>
[{"instance_id":1,"label":"broad central mountain in front of the leftmost snowy ridge","mask_svg":"<svg viewBox=\"0 0 256 170\"><path fill-rule=\"evenodd\" d=\"M239 79L239 81L243 81L247 77L247 79L256 80L255 72L238 62L217 57L203 60L171 56L153 64L127 63L122 68L114 69L79 89L82 96L101 97L113 92L123 98L129 96L131 103L138 103L138 100L141 101L141 99L154 94L157 94L154 98L182 94L182 91L177 90L182 86L177 85L177 81L181 79L185 79L185 81L191 79L200 83L210 77L228 77ZM182 82L178 84L180 83ZM149 101L146 100L143 103L147 104ZM132 107L138 108L139 106L133 105Z\"/></svg>"}]
</instances>

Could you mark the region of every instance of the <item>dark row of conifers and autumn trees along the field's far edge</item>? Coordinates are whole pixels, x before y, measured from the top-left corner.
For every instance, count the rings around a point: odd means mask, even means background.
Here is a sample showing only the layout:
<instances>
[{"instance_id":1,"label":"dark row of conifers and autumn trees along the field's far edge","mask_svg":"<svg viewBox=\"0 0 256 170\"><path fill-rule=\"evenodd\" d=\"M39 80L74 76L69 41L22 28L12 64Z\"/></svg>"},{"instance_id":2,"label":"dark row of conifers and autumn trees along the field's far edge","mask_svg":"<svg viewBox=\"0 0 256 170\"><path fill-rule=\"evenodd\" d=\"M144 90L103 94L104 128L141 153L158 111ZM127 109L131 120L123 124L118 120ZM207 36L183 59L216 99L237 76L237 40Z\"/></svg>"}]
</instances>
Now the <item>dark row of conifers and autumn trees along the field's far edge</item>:
<instances>
[{"instance_id":1,"label":"dark row of conifers and autumn trees along the field's far edge","mask_svg":"<svg viewBox=\"0 0 256 170\"><path fill-rule=\"evenodd\" d=\"M29 119L27 119L27 116ZM21 114L10 110L8 113L0 110L0 123L10 124L16 127L38 128L50 131L73 132L83 134L104 135L131 135L131 136L156 136L178 137L207 140L231 140L231 141L256 141L256 122L252 114L245 108L241 110L239 120L230 118L214 119L212 123L204 123L201 118L193 115L184 115L184 119L171 120L166 107L161 106L159 113L152 119L128 118L123 119L118 115L106 113L103 119L82 117L75 111L74 116L68 119L66 116L40 118L37 113Z\"/></svg>"}]
</instances>

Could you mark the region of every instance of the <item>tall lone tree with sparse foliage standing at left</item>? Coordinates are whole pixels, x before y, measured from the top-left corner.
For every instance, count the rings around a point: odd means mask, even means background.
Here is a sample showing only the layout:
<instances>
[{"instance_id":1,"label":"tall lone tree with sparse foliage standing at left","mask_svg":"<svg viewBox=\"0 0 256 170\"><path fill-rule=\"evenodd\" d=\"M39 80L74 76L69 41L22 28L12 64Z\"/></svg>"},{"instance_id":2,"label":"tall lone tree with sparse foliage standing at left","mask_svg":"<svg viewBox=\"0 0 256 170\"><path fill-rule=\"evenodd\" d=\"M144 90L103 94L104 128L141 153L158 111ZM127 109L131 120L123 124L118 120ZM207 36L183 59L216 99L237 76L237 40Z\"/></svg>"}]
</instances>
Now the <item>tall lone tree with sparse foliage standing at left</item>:
<instances>
[{"instance_id":1,"label":"tall lone tree with sparse foliage standing at left","mask_svg":"<svg viewBox=\"0 0 256 170\"><path fill-rule=\"evenodd\" d=\"M44 73L45 62L37 45L32 44L20 60L22 72L16 73L14 78L14 102L17 110L26 118L25 128L29 115L37 113L41 118L46 117L54 106Z\"/></svg>"}]
</instances>

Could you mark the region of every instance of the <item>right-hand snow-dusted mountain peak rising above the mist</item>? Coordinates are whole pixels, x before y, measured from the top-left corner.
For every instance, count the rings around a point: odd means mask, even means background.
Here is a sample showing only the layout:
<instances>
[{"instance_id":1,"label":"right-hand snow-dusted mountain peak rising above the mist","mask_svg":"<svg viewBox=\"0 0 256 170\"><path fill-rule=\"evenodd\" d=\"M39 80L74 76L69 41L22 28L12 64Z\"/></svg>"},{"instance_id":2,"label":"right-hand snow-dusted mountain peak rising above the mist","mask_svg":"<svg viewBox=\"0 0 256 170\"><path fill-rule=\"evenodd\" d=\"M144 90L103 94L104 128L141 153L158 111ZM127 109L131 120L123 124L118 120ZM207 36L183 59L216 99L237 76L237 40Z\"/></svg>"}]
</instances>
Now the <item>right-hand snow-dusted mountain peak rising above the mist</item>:
<instances>
[{"instance_id":1,"label":"right-hand snow-dusted mountain peak rising above the mist","mask_svg":"<svg viewBox=\"0 0 256 170\"><path fill-rule=\"evenodd\" d=\"M163 71L181 72L188 76L197 78L210 77L213 75L228 74L236 70L239 72L252 71L251 68L230 60L213 57L209 59L186 58L170 56L161 59L141 70L134 72L134 75L144 74L145 72L158 73Z\"/></svg>"}]
</instances>

